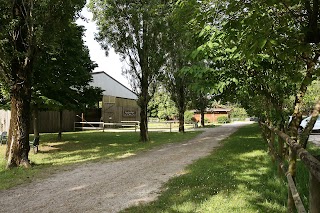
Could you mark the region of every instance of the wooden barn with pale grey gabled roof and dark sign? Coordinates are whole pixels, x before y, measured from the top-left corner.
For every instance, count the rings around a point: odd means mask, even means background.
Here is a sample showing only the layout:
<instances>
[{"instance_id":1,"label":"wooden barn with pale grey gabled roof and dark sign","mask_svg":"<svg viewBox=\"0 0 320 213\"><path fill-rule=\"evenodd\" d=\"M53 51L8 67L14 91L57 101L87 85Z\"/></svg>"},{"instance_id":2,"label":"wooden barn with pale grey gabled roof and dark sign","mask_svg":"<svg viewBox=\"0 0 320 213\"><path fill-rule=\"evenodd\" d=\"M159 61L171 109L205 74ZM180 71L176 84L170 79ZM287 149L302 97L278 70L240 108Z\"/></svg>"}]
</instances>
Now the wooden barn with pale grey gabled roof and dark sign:
<instances>
[{"instance_id":1,"label":"wooden barn with pale grey gabled roof and dark sign","mask_svg":"<svg viewBox=\"0 0 320 213\"><path fill-rule=\"evenodd\" d=\"M104 90L99 103L100 120L105 123L140 120L138 97L134 92L103 71L92 73L92 77L90 85ZM93 121L89 117L86 120Z\"/></svg>"}]
</instances>

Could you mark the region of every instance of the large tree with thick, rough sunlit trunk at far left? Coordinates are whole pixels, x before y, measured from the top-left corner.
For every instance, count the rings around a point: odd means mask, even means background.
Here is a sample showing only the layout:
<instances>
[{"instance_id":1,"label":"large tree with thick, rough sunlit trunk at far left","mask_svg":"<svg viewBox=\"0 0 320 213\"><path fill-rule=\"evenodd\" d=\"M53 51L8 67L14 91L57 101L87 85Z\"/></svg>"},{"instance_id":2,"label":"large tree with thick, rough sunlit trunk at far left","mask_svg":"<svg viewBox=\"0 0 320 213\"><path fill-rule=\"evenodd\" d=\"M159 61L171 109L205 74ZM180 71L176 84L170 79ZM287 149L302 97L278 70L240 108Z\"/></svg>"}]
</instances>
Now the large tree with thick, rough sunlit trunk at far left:
<instances>
[{"instance_id":1,"label":"large tree with thick, rough sunlit trunk at far left","mask_svg":"<svg viewBox=\"0 0 320 213\"><path fill-rule=\"evenodd\" d=\"M11 99L7 168L30 167L28 131L36 55L54 37L55 27L73 19L84 4L84 0L0 1L0 81L9 87Z\"/></svg>"}]
</instances>

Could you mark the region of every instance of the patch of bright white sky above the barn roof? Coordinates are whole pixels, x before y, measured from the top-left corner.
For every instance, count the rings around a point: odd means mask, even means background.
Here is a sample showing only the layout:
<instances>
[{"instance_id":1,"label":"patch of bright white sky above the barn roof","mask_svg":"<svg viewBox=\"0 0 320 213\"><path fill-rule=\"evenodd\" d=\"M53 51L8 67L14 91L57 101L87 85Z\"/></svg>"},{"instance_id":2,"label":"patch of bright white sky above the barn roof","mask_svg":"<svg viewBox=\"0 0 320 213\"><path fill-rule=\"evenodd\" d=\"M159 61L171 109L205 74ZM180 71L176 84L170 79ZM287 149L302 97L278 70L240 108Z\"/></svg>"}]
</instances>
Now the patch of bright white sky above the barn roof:
<instances>
[{"instance_id":1,"label":"patch of bright white sky above the barn roof","mask_svg":"<svg viewBox=\"0 0 320 213\"><path fill-rule=\"evenodd\" d=\"M106 57L105 51L101 49L100 44L94 39L94 34L98 30L95 22L92 21L92 13L85 7L81 14L88 19L88 22L78 19L77 24L83 25L87 29L83 40L89 48L91 60L98 64L94 72L105 71L108 75L131 89L128 80L121 74L123 63L120 61L119 55L111 49L108 57Z\"/></svg>"}]
</instances>

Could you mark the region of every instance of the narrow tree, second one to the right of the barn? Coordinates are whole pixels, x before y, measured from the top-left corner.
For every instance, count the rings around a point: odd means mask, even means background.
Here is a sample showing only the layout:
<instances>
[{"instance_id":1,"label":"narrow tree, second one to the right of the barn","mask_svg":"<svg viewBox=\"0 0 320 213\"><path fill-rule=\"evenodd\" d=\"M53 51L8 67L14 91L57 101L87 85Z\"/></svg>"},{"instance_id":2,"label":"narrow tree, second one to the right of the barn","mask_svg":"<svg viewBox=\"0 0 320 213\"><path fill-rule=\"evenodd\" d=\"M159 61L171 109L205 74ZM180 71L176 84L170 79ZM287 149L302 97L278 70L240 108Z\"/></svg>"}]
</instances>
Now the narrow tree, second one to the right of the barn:
<instances>
[{"instance_id":1,"label":"narrow tree, second one to the right of the barn","mask_svg":"<svg viewBox=\"0 0 320 213\"><path fill-rule=\"evenodd\" d=\"M191 57L196 48L195 34L200 30L195 16L199 13L198 1L175 1L168 10L167 39L162 43L167 52L164 67L164 85L178 109L179 132L184 132L184 113L190 99L192 82L184 69L195 63Z\"/></svg>"}]
</instances>

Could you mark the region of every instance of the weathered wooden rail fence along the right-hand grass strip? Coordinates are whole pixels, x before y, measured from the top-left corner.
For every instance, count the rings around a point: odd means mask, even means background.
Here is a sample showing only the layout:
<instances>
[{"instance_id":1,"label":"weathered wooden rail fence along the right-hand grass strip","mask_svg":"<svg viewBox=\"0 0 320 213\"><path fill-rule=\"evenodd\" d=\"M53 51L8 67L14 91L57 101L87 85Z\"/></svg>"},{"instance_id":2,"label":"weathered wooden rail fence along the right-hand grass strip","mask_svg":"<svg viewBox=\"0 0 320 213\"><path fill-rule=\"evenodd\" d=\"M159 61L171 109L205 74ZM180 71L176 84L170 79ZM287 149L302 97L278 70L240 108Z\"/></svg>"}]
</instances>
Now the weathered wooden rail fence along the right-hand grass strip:
<instances>
[{"instance_id":1,"label":"weathered wooden rail fence along the right-hand grass strip","mask_svg":"<svg viewBox=\"0 0 320 213\"><path fill-rule=\"evenodd\" d=\"M260 125L263 127L263 136L268 143L270 153L279 163L278 170L285 174L288 181L288 212L293 211L293 206L296 207L299 213L307 212L295 183L295 164L296 158L299 157L310 173L309 212L320 213L320 161L287 134L267 124L260 123ZM276 137L278 137L278 140L276 140ZM276 142L278 142L278 150L275 149ZM285 164L285 144L289 149L288 167Z\"/></svg>"}]
</instances>

